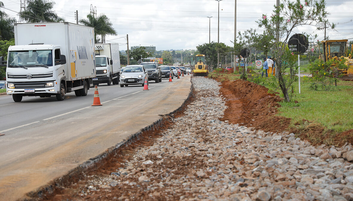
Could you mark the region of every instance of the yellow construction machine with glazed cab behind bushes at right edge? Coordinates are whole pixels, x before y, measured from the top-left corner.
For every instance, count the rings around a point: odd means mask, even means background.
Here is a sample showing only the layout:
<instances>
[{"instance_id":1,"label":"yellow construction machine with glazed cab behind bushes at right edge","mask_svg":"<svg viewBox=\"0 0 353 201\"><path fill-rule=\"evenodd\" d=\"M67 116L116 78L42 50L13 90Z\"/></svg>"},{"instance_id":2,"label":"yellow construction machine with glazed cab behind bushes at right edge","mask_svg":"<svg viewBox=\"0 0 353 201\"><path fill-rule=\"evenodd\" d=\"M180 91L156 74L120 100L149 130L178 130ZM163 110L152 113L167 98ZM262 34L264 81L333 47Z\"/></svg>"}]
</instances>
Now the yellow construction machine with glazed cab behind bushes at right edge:
<instances>
[{"instance_id":1,"label":"yellow construction machine with glazed cab behind bushes at right edge","mask_svg":"<svg viewBox=\"0 0 353 201\"><path fill-rule=\"evenodd\" d=\"M328 61L331 59L346 59L346 65L348 69L339 69L343 75L348 77L353 77L353 45L352 49L348 52L348 40L323 40L320 42L319 46L319 58L323 61Z\"/></svg>"}]
</instances>

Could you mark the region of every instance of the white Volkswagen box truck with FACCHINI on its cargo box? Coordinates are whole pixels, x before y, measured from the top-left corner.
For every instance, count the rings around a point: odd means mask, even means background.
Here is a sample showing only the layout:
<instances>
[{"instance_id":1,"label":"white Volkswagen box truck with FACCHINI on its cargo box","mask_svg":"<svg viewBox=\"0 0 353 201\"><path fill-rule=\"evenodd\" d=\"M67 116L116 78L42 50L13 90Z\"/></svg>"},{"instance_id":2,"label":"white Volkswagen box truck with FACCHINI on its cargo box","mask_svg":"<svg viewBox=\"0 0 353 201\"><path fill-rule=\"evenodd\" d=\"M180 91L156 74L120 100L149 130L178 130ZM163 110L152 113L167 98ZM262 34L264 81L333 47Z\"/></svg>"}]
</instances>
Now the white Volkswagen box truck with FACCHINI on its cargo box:
<instances>
[{"instance_id":1,"label":"white Volkswagen box truck with FACCHINI on its cargo box","mask_svg":"<svg viewBox=\"0 0 353 201\"><path fill-rule=\"evenodd\" d=\"M14 24L15 45L8 48L6 91L23 96L56 96L75 91L86 96L96 77L94 28L69 22Z\"/></svg>"}]
</instances>

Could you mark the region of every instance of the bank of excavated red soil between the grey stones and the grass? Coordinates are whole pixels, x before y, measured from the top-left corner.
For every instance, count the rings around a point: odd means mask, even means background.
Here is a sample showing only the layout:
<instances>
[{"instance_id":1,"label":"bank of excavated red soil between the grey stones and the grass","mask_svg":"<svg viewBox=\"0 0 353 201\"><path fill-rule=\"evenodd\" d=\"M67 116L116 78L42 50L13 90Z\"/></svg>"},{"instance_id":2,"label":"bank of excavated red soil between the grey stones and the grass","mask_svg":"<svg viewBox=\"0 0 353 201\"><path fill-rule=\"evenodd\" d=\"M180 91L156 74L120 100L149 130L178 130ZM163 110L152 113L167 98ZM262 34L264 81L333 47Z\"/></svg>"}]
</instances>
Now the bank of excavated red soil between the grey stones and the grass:
<instances>
[{"instance_id":1,"label":"bank of excavated red soil between the grey stones and the grass","mask_svg":"<svg viewBox=\"0 0 353 201\"><path fill-rule=\"evenodd\" d=\"M241 79L228 80L222 76L215 79L222 83L220 92L227 99L228 108L221 121L228 120L233 124L238 123L265 132L294 132L313 145L342 146L346 142L353 144L353 129L334 133L326 131L321 124L305 119L295 122L295 127L289 127L291 118L275 115L280 107L278 102L282 99L276 94L268 93L264 86Z\"/></svg>"}]
</instances>

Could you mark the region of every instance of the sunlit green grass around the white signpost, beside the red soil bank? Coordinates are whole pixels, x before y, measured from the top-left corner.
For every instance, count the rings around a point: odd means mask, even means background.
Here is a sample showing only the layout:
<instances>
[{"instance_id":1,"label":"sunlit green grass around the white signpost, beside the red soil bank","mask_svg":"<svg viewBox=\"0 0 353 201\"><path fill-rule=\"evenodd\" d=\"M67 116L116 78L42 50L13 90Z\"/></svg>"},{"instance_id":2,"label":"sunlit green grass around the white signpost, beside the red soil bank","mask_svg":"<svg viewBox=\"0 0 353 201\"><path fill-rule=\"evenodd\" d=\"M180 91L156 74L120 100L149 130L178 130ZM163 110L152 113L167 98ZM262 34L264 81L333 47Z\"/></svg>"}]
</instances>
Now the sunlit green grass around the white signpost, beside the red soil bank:
<instances>
[{"instance_id":1,"label":"sunlit green grass around the white signpost, beside the red soil bank","mask_svg":"<svg viewBox=\"0 0 353 201\"><path fill-rule=\"evenodd\" d=\"M287 103L281 102L279 116L293 119L293 123L302 119L322 124L328 130L343 132L353 128L353 82L340 81L337 87L329 91L309 89L309 81L301 80L301 93L298 82L295 83L295 96Z\"/></svg>"}]
</instances>

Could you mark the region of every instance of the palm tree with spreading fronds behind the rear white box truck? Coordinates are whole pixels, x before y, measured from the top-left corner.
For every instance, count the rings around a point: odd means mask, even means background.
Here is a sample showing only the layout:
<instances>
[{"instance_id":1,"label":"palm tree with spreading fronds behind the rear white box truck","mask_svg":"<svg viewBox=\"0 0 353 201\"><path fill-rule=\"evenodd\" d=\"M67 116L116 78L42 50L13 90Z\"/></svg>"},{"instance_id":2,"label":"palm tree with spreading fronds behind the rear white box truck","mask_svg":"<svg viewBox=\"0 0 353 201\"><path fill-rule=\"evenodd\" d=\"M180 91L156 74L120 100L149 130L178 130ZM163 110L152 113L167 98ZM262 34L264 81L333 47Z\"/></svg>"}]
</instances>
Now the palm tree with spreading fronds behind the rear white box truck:
<instances>
[{"instance_id":1,"label":"palm tree with spreading fronds behind the rear white box truck","mask_svg":"<svg viewBox=\"0 0 353 201\"><path fill-rule=\"evenodd\" d=\"M116 35L116 31L112 27L113 24L110 22L107 15L100 14L97 18L93 14L88 14L87 19L80 19L80 23L85 26L94 28L95 43L105 43L106 35ZM97 35L101 35L101 39L97 38Z\"/></svg>"}]
</instances>

